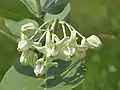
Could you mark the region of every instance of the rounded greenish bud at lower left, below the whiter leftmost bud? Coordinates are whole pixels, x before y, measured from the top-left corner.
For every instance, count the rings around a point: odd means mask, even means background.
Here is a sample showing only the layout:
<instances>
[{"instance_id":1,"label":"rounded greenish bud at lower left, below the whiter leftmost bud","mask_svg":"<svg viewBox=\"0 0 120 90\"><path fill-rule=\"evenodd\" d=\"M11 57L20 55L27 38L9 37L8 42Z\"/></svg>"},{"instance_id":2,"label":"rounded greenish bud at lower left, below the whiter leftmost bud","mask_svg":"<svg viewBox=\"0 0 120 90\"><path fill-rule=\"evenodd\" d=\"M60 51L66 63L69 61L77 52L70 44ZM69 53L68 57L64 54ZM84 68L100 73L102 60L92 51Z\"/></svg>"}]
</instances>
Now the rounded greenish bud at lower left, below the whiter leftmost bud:
<instances>
[{"instance_id":1,"label":"rounded greenish bud at lower left, below the whiter leftmost bud","mask_svg":"<svg viewBox=\"0 0 120 90\"><path fill-rule=\"evenodd\" d=\"M20 63L24 65L34 65L37 58L38 58L37 53L31 50L26 50L21 54Z\"/></svg>"}]
</instances>

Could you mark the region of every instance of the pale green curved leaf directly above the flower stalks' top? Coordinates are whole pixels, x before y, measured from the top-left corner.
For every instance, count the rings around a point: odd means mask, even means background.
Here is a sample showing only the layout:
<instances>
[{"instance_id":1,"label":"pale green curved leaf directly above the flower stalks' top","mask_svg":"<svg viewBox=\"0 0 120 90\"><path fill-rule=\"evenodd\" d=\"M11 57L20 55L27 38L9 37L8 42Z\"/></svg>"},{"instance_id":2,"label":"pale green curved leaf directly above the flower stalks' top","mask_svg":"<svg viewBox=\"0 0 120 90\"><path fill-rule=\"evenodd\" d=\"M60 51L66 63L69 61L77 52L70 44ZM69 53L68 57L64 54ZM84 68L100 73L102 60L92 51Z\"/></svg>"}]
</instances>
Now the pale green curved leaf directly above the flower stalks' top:
<instances>
[{"instance_id":1,"label":"pale green curved leaf directly above the flower stalks' top","mask_svg":"<svg viewBox=\"0 0 120 90\"><path fill-rule=\"evenodd\" d=\"M59 14L54 15L54 14L46 13L44 17L44 21L54 20L56 18L59 20L69 21L70 12L71 12L70 3L68 3L67 6L64 8L64 10Z\"/></svg>"}]
</instances>

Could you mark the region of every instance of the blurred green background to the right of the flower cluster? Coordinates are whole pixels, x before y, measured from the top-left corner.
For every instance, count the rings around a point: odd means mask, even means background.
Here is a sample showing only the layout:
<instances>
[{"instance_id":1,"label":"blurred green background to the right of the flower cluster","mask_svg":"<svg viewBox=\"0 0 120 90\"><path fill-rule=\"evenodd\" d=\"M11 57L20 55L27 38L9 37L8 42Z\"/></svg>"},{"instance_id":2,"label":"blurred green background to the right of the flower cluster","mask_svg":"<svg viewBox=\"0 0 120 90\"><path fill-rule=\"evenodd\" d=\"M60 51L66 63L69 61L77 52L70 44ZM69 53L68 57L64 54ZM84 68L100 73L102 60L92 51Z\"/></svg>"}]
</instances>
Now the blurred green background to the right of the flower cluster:
<instances>
[{"instance_id":1,"label":"blurred green background to the right of the flower cluster","mask_svg":"<svg viewBox=\"0 0 120 90\"><path fill-rule=\"evenodd\" d=\"M103 42L88 52L85 81L74 90L120 90L120 1L71 0L71 7L73 25Z\"/></svg>"}]
</instances>

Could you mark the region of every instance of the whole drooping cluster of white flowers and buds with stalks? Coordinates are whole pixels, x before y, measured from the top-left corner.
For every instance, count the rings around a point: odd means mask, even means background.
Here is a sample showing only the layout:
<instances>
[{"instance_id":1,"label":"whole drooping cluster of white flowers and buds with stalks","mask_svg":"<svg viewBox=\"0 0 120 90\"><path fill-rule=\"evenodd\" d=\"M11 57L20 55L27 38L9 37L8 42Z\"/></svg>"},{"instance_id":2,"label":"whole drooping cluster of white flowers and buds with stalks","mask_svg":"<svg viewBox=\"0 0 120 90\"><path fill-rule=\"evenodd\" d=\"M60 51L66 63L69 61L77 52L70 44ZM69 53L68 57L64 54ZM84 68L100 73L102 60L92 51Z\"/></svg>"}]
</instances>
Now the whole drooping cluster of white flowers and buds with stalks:
<instances>
[{"instance_id":1,"label":"whole drooping cluster of white flowers and buds with stalks","mask_svg":"<svg viewBox=\"0 0 120 90\"><path fill-rule=\"evenodd\" d=\"M62 28L61 39L55 33L56 25ZM66 30L69 30L69 35L66 34ZM37 40L35 40L36 35L38 35ZM78 37L81 37L80 44L77 42ZM17 49L22 51L20 62L34 67L36 75L43 75L49 67L57 65L54 60L80 60L86 56L89 48L94 49L101 44L97 36L91 35L85 38L67 22L56 19L47 21L40 27L35 27L33 23L23 25ZM41 57L39 57L40 53L42 53Z\"/></svg>"}]
</instances>

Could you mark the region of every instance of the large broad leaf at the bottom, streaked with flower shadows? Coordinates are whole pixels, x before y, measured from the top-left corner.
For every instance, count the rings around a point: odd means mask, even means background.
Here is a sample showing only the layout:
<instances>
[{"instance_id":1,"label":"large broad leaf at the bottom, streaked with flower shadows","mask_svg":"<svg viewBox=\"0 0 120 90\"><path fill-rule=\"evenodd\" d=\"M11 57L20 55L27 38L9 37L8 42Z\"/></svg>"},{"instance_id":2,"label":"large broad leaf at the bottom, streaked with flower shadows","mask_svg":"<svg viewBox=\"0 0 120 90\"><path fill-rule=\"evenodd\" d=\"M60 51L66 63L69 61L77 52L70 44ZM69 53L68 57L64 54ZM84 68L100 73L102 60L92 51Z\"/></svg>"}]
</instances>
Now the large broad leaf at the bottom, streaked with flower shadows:
<instances>
[{"instance_id":1,"label":"large broad leaf at the bottom, streaked with flower shadows","mask_svg":"<svg viewBox=\"0 0 120 90\"><path fill-rule=\"evenodd\" d=\"M19 62L16 62L4 76L0 84L0 89L70 90L81 83L85 73L83 66L80 65L80 61L73 60L73 62L58 60L58 68L51 67L45 75L45 79L36 78L32 67L23 66Z\"/></svg>"}]
</instances>

